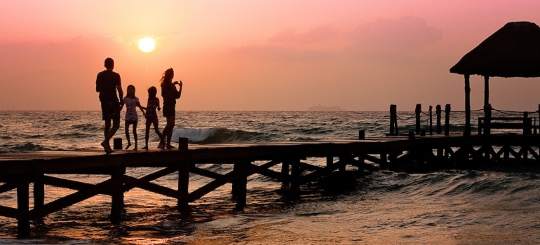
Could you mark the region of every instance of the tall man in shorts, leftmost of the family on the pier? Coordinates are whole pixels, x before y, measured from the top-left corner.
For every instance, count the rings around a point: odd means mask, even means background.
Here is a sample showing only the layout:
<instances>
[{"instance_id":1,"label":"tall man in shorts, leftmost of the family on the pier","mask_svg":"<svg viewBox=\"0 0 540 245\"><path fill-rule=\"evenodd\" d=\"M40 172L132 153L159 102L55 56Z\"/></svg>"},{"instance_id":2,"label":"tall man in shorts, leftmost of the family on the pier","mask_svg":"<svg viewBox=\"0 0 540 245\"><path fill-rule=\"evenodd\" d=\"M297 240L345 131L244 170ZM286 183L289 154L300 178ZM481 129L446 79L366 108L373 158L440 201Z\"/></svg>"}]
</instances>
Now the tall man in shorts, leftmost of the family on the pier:
<instances>
[{"instance_id":1,"label":"tall man in shorts, leftmost of the family on the pier","mask_svg":"<svg viewBox=\"0 0 540 245\"><path fill-rule=\"evenodd\" d=\"M105 70L97 73L95 92L100 93L102 120L105 121L105 140L101 143L101 146L103 146L105 153L109 154L113 152L110 140L120 127L120 109L123 105L123 100L121 100L123 91L120 74L112 71L114 69L114 60L111 58L105 59L104 66ZM116 97L116 91L118 91L118 97Z\"/></svg>"}]
</instances>

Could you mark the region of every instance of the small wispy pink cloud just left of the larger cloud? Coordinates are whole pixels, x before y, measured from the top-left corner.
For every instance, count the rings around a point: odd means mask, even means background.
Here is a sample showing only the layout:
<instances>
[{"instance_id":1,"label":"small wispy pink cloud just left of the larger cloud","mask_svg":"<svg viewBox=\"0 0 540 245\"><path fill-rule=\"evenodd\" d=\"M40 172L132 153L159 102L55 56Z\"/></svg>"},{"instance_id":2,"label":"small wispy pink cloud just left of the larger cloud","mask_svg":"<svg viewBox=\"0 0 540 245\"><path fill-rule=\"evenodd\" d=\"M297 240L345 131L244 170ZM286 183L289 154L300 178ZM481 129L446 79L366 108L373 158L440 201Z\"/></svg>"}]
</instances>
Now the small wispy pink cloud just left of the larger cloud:
<instances>
[{"instance_id":1,"label":"small wispy pink cloud just left of the larger cloud","mask_svg":"<svg viewBox=\"0 0 540 245\"><path fill-rule=\"evenodd\" d=\"M332 25L323 25L297 34L294 28L283 28L275 36L268 39L271 43L308 44L326 41L334 37L337 30Z\"/></svg>"}]
</instances>

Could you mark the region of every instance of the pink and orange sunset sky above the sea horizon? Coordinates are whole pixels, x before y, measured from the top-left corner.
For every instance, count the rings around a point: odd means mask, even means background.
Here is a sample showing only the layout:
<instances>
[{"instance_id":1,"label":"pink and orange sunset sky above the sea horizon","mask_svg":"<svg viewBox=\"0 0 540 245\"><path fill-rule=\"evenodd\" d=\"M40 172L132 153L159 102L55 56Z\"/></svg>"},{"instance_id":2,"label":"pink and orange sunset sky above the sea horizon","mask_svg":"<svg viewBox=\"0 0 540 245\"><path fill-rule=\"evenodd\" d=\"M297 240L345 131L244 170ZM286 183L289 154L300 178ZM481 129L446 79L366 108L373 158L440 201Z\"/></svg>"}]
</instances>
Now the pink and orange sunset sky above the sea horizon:
<instances>
[{"instance_id":1,"label":"pink and orange sunset sky above the sea horizon","mask_svg":"<svg viewBox=\"0 0 540 245\"><path fill-rule=\"evenodd\" d=\"M0 1L0 110L100 110L95 76L115 60L145 104L173 67L177 109L464 109L449 69L540 1ZM137 39L151 36L144 53ZM495 109L534 111L540 78L492 78ZM471 109L483 79L471 77Z\"/></svg>"}]
</instances>

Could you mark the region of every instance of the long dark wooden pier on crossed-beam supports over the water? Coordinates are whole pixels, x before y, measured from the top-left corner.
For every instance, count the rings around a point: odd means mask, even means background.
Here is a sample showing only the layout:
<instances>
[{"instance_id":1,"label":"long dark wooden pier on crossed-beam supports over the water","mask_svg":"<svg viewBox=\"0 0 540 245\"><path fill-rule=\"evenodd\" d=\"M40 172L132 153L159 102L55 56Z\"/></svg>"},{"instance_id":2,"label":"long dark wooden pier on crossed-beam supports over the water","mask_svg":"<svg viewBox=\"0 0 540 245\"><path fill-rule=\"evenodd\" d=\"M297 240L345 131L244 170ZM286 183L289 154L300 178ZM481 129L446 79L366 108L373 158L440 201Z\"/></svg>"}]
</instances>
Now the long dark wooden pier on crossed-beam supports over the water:
<instances>
[{"instance_id":1,"label":"long dark wooden pier on crossed-beam supports over the water","mask_svg":"<svg viewBox=\"0 0 540 245\"><path fill-rule=\"evenodd\" d=\"M360 132L363 138L363 132ZM424 134L422 134L424 135ZM334 139L328 141L275 144L189 145L189 149L123 151L110 155L102 151L31 152L0 154L0 195L16 189L17 208L1 207L0 216L18 220L18 233L30 230L30 221L43 218L95 195L111 196L111 221L121 220L124 193L142 188L177 199L179 209L189 206L212 190L231 183L236 207L246 204L248 176L261 174L283 182L299 195L300 186L317 181L334 171L371 172L376 169L427 172L443 168L473 168L480 165L539 165L539 134L433 134L421 137L382 137ZM323 158L325 166L311 165L306 158ZM201 163L230 164L227 174L197 167ZM281 172L270 169L281 165ZM126 175L128 167L159 167L154 173L135 178ZM274 168L275 169L275 168ZM151 183L168 174L178 174L177 190ZM69 174L110 176L97 184L58 177ZM189 193L189 174L212 179ZM30 184L34 183L34 207L29 207ZM44 186L76 190L58 200L44 203Z\"/></svg>"}]
</instances>

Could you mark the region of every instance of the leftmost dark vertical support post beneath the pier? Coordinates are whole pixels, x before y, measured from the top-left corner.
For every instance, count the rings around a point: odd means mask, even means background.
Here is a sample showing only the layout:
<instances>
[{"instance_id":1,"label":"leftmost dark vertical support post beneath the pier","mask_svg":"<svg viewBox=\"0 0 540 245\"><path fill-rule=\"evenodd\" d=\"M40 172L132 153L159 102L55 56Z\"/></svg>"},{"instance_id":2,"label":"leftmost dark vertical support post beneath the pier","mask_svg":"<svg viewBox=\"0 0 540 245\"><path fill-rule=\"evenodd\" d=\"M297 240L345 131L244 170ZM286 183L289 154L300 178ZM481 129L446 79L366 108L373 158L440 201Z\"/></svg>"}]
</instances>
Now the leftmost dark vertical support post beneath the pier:
<instances>
[{"instance_id":1,"label":"leftmost dark vertical support post beneath the pier","mask_svg":"<svg viewBox=\"0 0 540 245\"><path fill-rule=\"evenodd\" d=\"M28 176L17 181L17 235L25 237L30 232Z\"/></svg>"}]
</instances>

